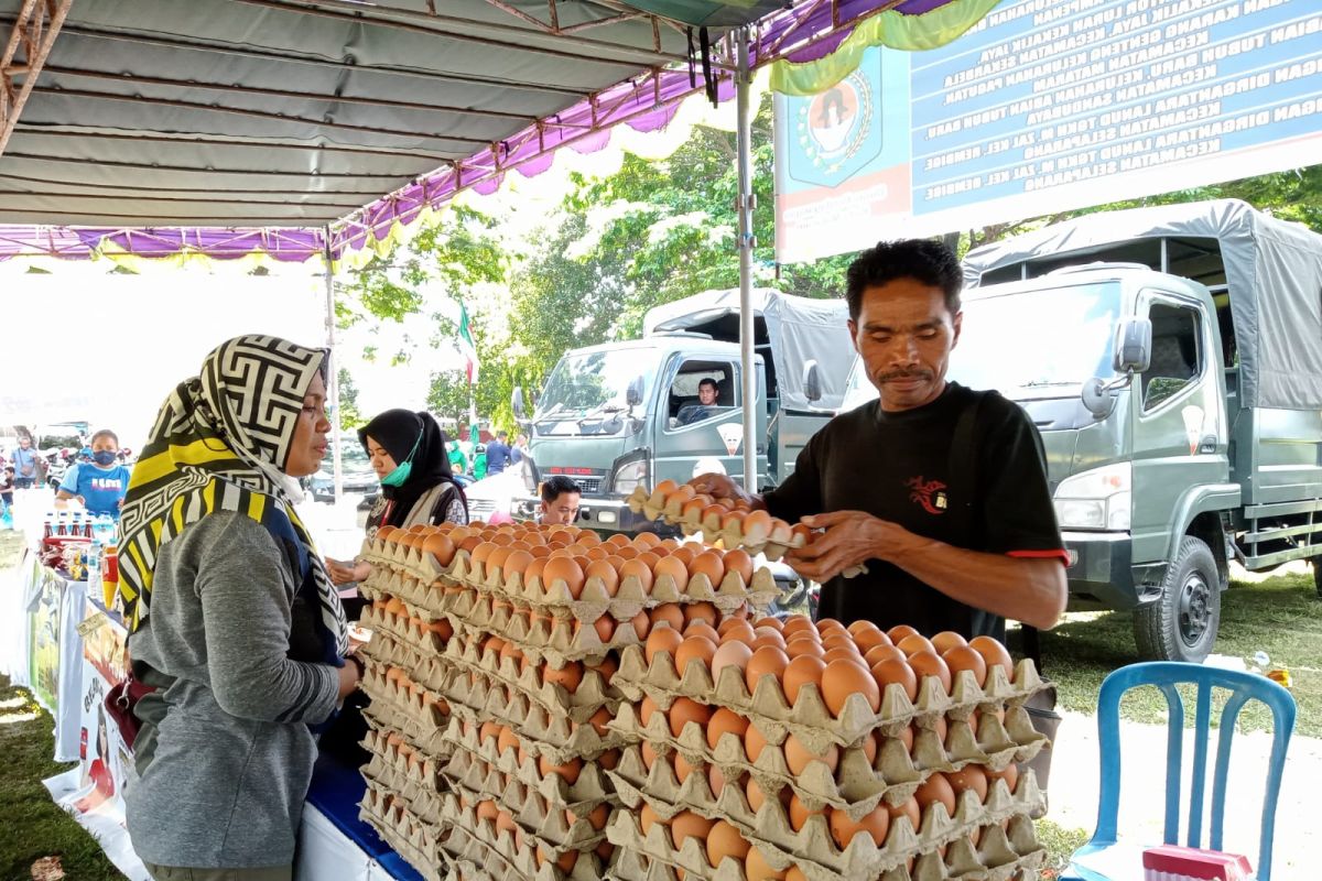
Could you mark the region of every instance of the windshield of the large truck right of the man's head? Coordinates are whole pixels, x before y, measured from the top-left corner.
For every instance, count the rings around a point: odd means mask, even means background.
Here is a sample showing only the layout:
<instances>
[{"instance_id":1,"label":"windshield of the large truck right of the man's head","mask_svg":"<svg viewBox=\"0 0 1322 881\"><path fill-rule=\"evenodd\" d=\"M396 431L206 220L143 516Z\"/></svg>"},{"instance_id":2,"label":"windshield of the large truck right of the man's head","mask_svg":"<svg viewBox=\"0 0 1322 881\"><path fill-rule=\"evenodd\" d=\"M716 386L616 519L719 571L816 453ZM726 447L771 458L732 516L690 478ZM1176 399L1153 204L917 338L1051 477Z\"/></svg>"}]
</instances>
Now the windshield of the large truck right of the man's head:
<instances>
[{"instance_id":1,"label":"windshield of the large truck right of the man's head","mask_svg":"<svg viewBox=\"0 0 1322 881\"><path fill-rule=\"evenodd\" d=\"M1064 398L1092 376L1110 378L1120 285L1080 284L964 302L949 376L1010 398Z\"/></svg>"}]
</instances>

